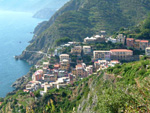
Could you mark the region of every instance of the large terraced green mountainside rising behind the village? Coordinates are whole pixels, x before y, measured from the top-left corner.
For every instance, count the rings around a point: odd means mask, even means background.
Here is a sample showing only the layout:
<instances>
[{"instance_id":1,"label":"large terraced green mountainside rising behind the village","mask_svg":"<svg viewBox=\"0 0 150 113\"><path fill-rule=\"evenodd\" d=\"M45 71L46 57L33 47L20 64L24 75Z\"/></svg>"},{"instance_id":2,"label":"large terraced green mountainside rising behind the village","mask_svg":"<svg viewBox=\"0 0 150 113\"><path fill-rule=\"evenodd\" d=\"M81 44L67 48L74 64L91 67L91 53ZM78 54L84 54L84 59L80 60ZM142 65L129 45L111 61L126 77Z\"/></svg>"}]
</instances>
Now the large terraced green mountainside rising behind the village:
<instances>
[{"instance_id":1,"label":"large terraced green mountainside rising behind the village","mask_svg":"<svg viewBox=\"0 0 150 113\"><path fill-rule=\"evenodd\" d=\"M111 34L120 27L138 24L149 11L150 0L71 0L38 26L27 50L46 52L62 37L82 41L100 30Z\"/></svg>"}]
</instances>

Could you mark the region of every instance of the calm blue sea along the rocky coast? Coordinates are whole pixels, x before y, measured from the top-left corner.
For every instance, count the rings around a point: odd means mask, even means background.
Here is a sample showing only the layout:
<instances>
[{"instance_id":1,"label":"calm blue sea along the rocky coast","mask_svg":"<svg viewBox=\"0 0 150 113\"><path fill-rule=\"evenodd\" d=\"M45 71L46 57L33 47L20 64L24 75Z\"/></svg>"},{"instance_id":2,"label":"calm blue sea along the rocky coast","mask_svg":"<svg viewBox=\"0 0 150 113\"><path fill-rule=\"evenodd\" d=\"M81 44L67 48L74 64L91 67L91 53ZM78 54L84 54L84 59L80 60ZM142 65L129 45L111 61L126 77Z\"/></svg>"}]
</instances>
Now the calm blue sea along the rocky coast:
<instances>
[{"instance_id":1,"label":"calm blue sea along the rocky coast","mask_svg":"<svg viewBox=\"0 0 150 113\"><path fill-rule=\"evenodd\" d=\"M28 73L31 65L14 59L29 45L34 28L41 19L32 18L32 13L0 11L0 97L5 97L13 88L16 79Z\"/></svg>"}]
</instances>

